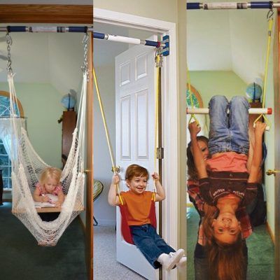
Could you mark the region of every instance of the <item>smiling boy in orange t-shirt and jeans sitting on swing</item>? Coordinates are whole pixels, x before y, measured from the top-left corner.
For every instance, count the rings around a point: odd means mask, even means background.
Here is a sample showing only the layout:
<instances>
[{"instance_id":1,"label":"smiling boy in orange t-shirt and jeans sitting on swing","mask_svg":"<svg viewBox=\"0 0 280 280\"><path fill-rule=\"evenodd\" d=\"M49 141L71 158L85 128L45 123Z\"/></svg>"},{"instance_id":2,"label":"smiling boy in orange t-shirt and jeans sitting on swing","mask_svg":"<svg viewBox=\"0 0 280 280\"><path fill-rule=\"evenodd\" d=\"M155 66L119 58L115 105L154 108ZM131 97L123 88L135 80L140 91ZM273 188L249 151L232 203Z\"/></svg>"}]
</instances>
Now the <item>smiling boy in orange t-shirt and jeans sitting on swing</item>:
<instances>
[{"instance_id":1,"label":"smiling boy in orange t-shirt and jeans sitting on swing","mask_svg":"<svg viewBox=\"0 0 280 280\"><path fill-rule=\"evenodd\" d=\"M165 189L160 184L158 174L154 173L152 177L157 188L155 201L165 200ZM139 248L155 269L161 265L167 270L175 266L182 269L186 265L184 250L179 249L175 251L157 234L156 229L151 225L149 215L153 193L146 191L148 178L149 174L146 168L139 165L127 167L125 181L130 190L121 192L120 195L125 204L127 204L129 211L127 223L132 232L132 239L137 248ZM109 204L112 206L120 205L120 198L116 190L119 182L119 176L114 175L108 195Z\"/></svg>"}]
</instances>

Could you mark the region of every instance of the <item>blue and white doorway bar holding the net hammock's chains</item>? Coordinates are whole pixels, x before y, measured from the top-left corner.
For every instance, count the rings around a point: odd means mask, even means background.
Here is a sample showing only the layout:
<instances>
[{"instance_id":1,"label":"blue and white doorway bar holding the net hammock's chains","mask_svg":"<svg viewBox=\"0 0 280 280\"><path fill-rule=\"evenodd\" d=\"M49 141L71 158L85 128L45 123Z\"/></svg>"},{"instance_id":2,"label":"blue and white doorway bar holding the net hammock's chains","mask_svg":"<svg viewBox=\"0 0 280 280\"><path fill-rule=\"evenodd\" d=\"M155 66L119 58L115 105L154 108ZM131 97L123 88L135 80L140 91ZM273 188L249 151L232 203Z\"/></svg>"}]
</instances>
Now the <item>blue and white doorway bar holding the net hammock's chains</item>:
<instances>
[{"instance_id":1,"label":"blue and white doorway bar holding the net hammock's chains","mask_svg":"<svg viewBox=\"0 0 280 280\"><path fill-rule=\"evenodd\" d=\"M55 32L55 33L66 33L66 32L93 32L93 27L27 27L27 26L7 26L0 27L0 32Z\"/></svg>"}]
</instances>

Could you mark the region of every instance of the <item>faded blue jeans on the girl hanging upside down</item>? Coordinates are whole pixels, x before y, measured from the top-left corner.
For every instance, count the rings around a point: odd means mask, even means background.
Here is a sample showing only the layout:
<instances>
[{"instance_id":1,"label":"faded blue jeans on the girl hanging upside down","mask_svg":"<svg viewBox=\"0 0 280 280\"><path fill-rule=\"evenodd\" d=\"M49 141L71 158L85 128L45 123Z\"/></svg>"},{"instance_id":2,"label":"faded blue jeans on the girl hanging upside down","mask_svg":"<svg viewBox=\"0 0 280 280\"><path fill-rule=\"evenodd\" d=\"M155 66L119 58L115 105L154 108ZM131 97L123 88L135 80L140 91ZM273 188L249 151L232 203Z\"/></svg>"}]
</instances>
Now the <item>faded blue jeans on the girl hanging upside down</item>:
<instances>
[{"instance_id":1,"label":"faded blue jeans on the girl hanging upside down","mask_svg":"<svg viewBox=\"0 0 280 280\"><path fill-rule=\"evenodd\" d=\"M232 97L230 103L224 96L216 95L209 102L209 151L248 154L248 109L245 97ZM228 114L228 109L230 113Z\"/></svg>"}]
</instances>

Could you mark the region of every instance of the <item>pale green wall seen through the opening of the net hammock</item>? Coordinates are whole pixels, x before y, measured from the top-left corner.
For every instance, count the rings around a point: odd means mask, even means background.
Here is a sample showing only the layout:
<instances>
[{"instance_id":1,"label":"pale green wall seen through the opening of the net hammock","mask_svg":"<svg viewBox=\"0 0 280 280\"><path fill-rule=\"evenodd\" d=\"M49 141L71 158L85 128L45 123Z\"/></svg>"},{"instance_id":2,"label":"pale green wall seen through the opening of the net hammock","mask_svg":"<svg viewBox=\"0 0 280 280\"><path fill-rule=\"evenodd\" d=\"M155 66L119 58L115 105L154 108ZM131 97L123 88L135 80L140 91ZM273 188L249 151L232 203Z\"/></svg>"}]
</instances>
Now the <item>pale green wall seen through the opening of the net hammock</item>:
<instances>
[{"instance_id":1,"label":"pale green wall seen through the opening of the net hammock","mask_svg":"<svg viewBox=\"0 0 280 280\"><path fill-rule=\"evenodd\" d=\"M0 83L8 92L8 83ZM48 83L15 83L17 97L27 117L27 133L34 150L45 163L62 168L62 95Z\"/></svg>"}]
</instances>

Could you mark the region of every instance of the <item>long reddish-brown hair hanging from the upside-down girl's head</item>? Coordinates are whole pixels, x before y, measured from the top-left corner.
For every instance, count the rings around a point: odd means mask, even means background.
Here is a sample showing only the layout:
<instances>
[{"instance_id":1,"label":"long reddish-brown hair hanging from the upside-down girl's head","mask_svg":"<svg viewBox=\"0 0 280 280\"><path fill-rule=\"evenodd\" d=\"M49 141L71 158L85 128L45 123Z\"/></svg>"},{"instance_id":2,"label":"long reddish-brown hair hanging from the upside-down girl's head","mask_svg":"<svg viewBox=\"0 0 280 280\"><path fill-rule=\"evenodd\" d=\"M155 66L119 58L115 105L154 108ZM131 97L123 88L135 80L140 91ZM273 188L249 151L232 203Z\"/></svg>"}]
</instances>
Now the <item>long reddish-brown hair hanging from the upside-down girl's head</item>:
<instances>
[{"instance_id":1,"label":"long reddish-brown hair hanging from the upside-down girl's head","mask_svg":"<svg viewBox=\"0 0 280 280\"><path fill-rule=\"evenodd\" d=\"M246 260L244 258L244 241L241 232L234 244L223 244L214 237L212 223L218 216L218 209L204 204L205 216L202 228L206 237L205 251L209 264L210 280L244 280L246 279Z\"/></svg>"}]
</instances>

